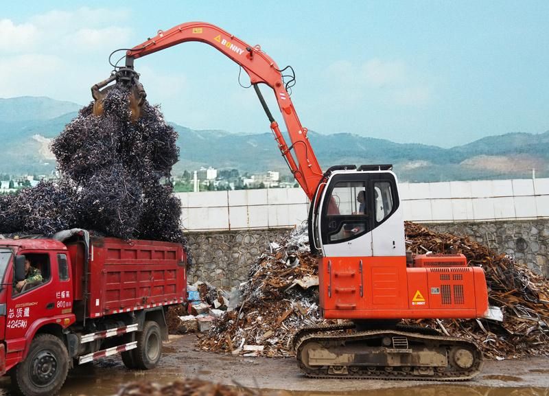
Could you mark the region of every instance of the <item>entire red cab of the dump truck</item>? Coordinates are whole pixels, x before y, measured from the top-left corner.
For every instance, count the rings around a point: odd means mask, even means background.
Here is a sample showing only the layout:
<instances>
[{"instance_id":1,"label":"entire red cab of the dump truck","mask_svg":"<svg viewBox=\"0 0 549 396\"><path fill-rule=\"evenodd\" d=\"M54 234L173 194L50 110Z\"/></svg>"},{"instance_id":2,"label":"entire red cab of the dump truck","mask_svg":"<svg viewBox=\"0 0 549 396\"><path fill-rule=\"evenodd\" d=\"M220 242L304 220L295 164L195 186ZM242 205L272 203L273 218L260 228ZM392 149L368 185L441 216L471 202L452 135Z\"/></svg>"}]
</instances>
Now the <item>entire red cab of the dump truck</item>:
<instances>
[{"instance_id":1,"label":"entire red cab of the dump truck","mask_svg":"<svg viewBox=\"0 0 549 396\"><path fill-rule=\"evenodd\" d=\"M75 322L72 313L73 282L67 247L56 240L0 241L0 372L12 369L28 351L36 332L62 334ZM16 263L30 259L41 281L16 289ZM24 270L24 268L23 268ZM19 271L21 272L21 271ZM19 275L19 274L18 274ZM20 275L21 276L21 275ZM25 273L23 272L23 276ZM23 278L24 279L24 278Z\"/></svg>"}]
</instances>

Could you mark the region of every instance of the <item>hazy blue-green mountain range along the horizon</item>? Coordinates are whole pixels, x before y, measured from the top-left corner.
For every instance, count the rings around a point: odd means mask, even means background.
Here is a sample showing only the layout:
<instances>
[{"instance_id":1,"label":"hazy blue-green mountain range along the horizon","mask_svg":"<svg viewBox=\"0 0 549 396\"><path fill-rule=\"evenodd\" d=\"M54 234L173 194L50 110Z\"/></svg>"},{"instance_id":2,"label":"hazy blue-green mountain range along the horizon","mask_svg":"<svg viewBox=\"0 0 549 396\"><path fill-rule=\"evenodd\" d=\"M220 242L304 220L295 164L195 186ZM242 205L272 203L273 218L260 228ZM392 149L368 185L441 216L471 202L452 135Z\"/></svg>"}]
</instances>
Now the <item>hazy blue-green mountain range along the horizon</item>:
<instances>
[{"instance_id":1,"label":"hazy blue-green mountain range along the horizon","mask_svg":"<svg viewBox=\"0 0 549 396\"><path fill-rule=\"evenodd\" d=\"M79 104L49 97L0 99L0 173L49 174L55 158L48 149L77 114ZM271 133L233 134L193 130L172 124L179 133L180 161L174 174L201 166L259 173L288 168ZM484 137L454 148L395 143L350 133L309 131L317 159L327 169L338 164L393 163L401 180L443 181L549 176L549 131Z\"/></svg>"}]
</instances>

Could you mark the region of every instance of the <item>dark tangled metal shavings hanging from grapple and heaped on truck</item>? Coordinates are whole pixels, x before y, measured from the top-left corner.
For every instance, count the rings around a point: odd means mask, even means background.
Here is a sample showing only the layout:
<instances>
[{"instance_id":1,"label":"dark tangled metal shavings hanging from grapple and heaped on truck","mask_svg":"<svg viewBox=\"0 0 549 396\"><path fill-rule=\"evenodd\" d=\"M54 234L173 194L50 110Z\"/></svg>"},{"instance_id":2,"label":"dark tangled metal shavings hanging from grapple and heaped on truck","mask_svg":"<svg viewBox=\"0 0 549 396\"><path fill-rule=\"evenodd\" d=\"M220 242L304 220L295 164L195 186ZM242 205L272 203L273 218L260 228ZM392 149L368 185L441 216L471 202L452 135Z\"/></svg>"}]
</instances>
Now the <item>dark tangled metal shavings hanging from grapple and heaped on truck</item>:
<instances>
[{"instance_id":1,"label":"dark tangled metal shavings hanging from grapple and heaped on truck","mask_svg":"<svg viewBox=\"0 0 549 396\"><path fill-rule=\"evenodd\" d=\"M180 201L165 183L178 160L177 132L148 102L132 123L123 86L113 86L102 105L100 116L93 104L82 108L53 141L60 180L0 197L0 233L78 227L186 246Z\"/></svg>"}]
</instances>

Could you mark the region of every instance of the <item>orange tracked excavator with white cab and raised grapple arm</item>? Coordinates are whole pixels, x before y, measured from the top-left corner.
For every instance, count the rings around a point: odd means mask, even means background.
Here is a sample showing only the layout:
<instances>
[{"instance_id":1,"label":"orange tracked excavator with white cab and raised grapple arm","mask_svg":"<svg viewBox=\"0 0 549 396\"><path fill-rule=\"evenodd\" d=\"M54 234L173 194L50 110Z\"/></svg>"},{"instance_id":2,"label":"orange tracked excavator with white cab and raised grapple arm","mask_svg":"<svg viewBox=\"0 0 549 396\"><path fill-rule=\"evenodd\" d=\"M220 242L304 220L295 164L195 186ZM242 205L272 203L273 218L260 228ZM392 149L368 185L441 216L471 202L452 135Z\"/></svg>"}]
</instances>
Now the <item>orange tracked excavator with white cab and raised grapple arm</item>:
<instances>
[{"instance_id":1,"label":"orange tracked excavator with white cab and raised grapple arm","mask_svg":"<svg viewBox=\"0 0 549 396\"><path fill-rule=\"evenodd\" d=\"M309 377L467 380L482 367L482 352L469 340L434 329L405 326L404 318L482 318L487 284L480 267L463 255L406 252L402 202L392 166L336 165L323 172L297 117L288 89L291 67L279 68L259 45L251 46L209 23L191 22L159 31L126 51L124 67L92 87L94 113L117 81L130 89L133 119L145 99L136 59L168 47L200 41L218 49L250 77L278 148L311 201L309 242L320 255L320 309L348 324L300 329L293 345ZM286 143L259 84L272 89L291 144ZM106 88L105 88L106 87Z\"/></svg>"}]
</instances>

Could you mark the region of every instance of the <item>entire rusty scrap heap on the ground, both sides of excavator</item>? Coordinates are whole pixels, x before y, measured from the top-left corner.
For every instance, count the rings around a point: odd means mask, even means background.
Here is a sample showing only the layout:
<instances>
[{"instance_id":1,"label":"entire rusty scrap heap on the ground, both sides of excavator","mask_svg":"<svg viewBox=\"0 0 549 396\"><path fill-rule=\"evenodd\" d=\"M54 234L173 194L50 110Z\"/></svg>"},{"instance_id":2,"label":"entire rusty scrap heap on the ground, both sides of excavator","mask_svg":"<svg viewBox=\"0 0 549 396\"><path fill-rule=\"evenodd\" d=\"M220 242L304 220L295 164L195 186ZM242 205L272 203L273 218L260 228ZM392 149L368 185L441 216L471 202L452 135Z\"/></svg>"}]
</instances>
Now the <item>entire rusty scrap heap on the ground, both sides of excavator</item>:
<instances>
[{"instance_id":1,"label":"entire rusty scrap heap on the ground, both sides of excavator","mask_svg":"<svg viewBox=\"0 0 549 396\"><path fill-rule=\"evenodd\" d=\"M523 264L486 246L449 233L406 223L406 244L413 253L463 253L469 265L486 271L490 305L502 321L420 320L449 336L474 340L487 358L549 355L549 286ZM209 351L244 356L291 356L293 334L301 327L332 323L318 310L318 268L309 253L306 229L270 244L241 287L242 305L213 324L198 344ZM312 286L312 287L311 287ZM496 311L499 310L496 308Z\"/></svg>"}]
</instances>

